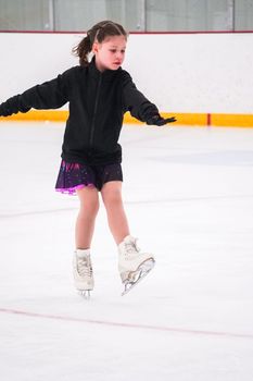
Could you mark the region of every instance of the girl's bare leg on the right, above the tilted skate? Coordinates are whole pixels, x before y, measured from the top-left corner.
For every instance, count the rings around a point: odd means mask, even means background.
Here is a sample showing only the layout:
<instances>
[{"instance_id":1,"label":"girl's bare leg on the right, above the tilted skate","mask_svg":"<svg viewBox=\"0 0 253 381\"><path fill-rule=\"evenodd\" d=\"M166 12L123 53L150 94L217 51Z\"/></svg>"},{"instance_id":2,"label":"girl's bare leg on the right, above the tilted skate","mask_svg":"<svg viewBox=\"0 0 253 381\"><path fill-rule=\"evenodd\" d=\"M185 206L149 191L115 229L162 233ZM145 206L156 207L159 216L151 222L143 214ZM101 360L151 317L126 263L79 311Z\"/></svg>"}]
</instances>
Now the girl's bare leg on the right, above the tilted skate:
<instances>
[{"instance_id":1,"label":"girl's bare leg on the right, above the tilted skate","mask_svg":"<svg viewBox=\"0 0 253 381\"><path fill-rule=\"evenodd\" d=\"M109 228L114 241L118 245L129 235L127 217L122 200L122 182L105 183L101 190L102 199L107 213Z\"/></svg>"}]
</instances>

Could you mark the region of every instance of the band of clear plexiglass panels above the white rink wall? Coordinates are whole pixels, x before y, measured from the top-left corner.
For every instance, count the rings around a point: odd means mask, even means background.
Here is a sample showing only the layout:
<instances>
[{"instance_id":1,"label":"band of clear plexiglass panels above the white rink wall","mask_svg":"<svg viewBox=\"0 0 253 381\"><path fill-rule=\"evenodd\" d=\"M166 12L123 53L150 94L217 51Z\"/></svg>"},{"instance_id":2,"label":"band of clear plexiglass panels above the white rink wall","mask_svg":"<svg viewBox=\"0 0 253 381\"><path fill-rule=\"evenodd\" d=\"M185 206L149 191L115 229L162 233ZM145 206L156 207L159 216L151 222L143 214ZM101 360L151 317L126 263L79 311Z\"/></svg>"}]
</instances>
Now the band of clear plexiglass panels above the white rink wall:
<instances>
[{"instance_id":1,"label":"band of clear plexiglass panels above the white rink wall","mask_svg":"<svg viewBox=\"0 0 253 381\"><path fill-rule=\"evenodd\" d=\"M0 30L87 30L113 20L129 32L253 30L253 0L0 0Z\"/></svg>"}]
</instances>

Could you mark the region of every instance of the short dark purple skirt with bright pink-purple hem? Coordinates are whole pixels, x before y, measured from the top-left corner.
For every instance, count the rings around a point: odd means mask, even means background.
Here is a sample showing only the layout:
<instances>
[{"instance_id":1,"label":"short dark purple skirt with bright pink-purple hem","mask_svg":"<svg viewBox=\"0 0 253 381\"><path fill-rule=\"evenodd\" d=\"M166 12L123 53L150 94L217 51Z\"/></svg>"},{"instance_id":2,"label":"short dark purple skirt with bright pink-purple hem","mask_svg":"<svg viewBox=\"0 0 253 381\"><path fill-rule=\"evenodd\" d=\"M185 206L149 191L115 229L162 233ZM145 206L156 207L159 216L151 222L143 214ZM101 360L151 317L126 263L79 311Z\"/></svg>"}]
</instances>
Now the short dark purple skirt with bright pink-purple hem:
<instances>
[{"instance_id":1,"label":"short dark purple skirt with bright pink-purple hem","mask_svg":"<svg viewBox=\"0 0 253 381\"><path fill-rule=\"evenodd\" d=\"M87 165L80 163L61 162L55 190L75 195L85 186L101 190L110 181L123 181L122 165Z\"/></svg>"}]
</instances>

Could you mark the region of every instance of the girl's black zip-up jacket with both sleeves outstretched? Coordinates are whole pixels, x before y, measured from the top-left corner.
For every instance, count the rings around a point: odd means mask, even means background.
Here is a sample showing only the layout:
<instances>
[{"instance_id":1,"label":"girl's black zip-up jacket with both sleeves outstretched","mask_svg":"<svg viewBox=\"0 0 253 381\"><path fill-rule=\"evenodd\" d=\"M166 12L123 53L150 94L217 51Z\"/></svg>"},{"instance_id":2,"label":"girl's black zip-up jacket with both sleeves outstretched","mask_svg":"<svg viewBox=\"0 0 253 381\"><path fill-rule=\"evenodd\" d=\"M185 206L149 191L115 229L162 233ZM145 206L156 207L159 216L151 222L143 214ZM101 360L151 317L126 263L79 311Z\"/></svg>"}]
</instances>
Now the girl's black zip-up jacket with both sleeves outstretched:
<instances>
[{"instance_id":1,"label":"girl's black zip-up jacket with both sleeves outstretched","mask_svg":"<svg viewBox=\"0 0 253 381\"><path fill-rule=\"evenodd\" d=\"M86 66L74 66L56 78L37 85L0 105L0 115L34 109L58 109L69 102L69 116L62 146L62 158L68 162L110 164L122 161L117 143L126 111L142 122L159 114L135 86L130 75L97 70L94 60Z\"/></svg>"}]
</instances>

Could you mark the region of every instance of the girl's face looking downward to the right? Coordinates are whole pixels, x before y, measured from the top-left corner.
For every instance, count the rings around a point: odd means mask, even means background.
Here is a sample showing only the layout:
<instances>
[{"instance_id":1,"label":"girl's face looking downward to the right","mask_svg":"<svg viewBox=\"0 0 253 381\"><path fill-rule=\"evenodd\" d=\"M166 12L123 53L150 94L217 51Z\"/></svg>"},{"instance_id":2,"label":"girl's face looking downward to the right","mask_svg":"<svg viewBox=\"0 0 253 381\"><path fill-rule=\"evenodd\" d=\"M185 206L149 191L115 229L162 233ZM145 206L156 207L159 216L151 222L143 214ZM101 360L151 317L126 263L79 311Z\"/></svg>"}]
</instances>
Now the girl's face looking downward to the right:
<instances>
[{"instance_id":1,"label":"girl's face looking downward to the right","mask_svg":"<svg viewBox=\"0 0 253 381\"><path fill-rule=\"evenodd\" d=\"M124 36L111 36L103 42L94 42L92 52L96 56L96 66L100 72L117 70L125 58L126 38Z\"/></svg>"}]
</instances>

